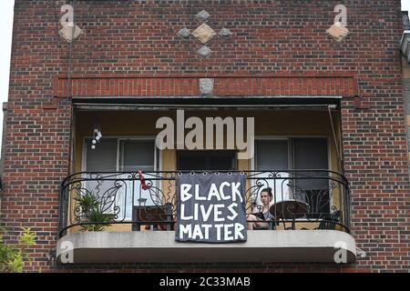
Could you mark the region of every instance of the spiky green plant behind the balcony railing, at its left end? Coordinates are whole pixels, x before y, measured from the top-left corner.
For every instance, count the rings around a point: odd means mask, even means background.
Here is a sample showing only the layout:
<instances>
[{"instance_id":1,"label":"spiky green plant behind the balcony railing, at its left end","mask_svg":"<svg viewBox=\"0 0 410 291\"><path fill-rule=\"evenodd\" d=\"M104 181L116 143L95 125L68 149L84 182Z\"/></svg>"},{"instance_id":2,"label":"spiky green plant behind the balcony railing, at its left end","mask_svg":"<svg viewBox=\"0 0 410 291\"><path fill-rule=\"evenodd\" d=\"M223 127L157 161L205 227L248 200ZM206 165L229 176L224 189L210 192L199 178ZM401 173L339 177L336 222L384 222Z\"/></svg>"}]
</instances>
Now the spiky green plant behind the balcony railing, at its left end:
<instances>
[{"instance_id":1,"label":"spiky green plant behind the balcony railing, at its left end","mask_svg":"<svg viewBox=\"0 0 410 291\"><path fill-rule=\"evenodd\" d=\"M102 201L92 193L80 194L75 199L81 209L81 223L87 223L81 226L82 231L103 231L114 222L114 215L104 213Z\"/></svg>"}]
</instances>

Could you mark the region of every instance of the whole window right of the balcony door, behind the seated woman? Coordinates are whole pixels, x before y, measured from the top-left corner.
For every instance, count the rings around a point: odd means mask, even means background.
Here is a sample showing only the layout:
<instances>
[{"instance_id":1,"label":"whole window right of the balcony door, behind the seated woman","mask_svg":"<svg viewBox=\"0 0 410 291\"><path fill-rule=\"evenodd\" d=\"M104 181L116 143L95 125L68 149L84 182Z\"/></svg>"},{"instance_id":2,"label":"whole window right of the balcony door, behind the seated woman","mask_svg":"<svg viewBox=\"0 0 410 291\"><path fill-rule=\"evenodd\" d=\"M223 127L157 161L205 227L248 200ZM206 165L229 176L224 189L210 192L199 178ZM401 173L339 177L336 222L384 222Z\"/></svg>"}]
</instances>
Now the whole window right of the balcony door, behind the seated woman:
<instances>
[{"instance_id":1,"label":"whole window right of the balcony door, behind the seated woman","mask_svg":"<svg viewBox=\"0 0 410 291\"><path fill-rule=\"evenodd\" d=\"M272 188L276 200L272 204L291 198L301 199L312 206L311 212L328 213L330 201L327 175L312 171L328 168L326 138L261 139L255 142L255 170L279 171L276 174L281 177L273 180L262 178L267 177L268 173L259 175L260 188ZM297 174L306 178L296 179L289 175L288 169L306 170ZM259 194L256 203L260 203Z\"/></svg>"}]
</instances>

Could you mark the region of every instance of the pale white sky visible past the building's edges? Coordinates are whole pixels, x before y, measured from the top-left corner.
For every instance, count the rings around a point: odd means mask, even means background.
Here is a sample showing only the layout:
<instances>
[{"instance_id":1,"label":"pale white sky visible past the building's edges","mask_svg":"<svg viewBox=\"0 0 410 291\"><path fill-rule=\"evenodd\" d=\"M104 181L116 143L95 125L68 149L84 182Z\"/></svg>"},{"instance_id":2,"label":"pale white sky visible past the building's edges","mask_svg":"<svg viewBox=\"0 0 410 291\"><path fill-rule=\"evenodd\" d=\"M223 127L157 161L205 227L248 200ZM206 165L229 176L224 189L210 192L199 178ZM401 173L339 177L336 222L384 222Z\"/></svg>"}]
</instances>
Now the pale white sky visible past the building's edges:
<instances>
[{"instance_id":1,"label":"pale white sky visible past the building's edges","mask_svg":"<svg viewBox=\"0 0 410 291\"><path fill-rule=\"evenodd\" d=\"M343 3L343 1L341 2ZM8 96L14 5L15 0L0 0L0 27L2 33L2 41L0 42L0 104L6 102ZM402 10L410 11L410 0L402 0ZM3 110L0 108L0 136L2 133Z\"/></svg>"}]
</instances>

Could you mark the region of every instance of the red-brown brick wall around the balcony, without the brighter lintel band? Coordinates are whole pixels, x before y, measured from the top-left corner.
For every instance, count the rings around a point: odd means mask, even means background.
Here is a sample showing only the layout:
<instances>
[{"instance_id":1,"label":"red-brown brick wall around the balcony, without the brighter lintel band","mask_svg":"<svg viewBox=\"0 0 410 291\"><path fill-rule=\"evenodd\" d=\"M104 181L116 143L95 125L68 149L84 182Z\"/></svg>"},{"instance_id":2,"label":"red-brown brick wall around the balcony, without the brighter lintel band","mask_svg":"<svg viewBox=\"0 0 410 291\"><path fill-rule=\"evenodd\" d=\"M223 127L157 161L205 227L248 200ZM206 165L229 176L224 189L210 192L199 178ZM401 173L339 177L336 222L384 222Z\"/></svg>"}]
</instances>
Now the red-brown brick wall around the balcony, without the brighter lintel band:
<instances>
[{"instance_id":1,"label":"red-brown brick wall around the balcony, without the brighter lintel band","mask_svg":"<svg viewBox=\"0 0 410 291\"><path fill-rule=\"evenodd\" d=\"M5 223L12 229L10 241L15 241L20 226L31 226L38 236L38 244L31 249L34 266L27 270L56 269L47 255L53 254L56 246L58 186L68 173L71 116L64 92L69 45L58 36L59 10L63 4L66 1L15 0L1 210ZM309 86L296 86L292 94L292 90L282 91L281 86L278 89L277 82L283 82L286 89L298 82L309 84L314 78L317 81L318 76L323 80L334 77L331 84L335 82L336 86L332 95L346 96L342 116L343 154L345 174L352 186L352 230L357 245L368 256L343 267L241 264L80 268L409 270L410 191L398 48L402 32L400 0L343 1L348 8L348 28L352 35L342 43L334 42L325 33L333 24L333 7L337 4L339 1L333 0L241 1L240 4L230 0L148 3L78 0L77 25L85 35L73 45L73 84L84 84L81 76L106 75L108 79L116 79L116 75L127 75L118 82L148 78L154 85L170 82L167 76L179 75L191 85L188 93L195 95L196 77L213 76L220 77L216 82L217 92L227 95L243 92L239 89L243 84L231 79L241 75L242 81L258 80L255 81L258 85L251 86L246 94L310 95L314 92ZM201 9L210 12L210 26L216 30L227 27L233 34L228 39L215 37L210 43L213 53L206 60L196 54L198 43L176 34L184 26L192 31L200 25L194 15ZM351 78L341 77L345 74ZM161 77L160 81L156 77ZM73 92L88 95L87 90L100 90L97 92L106 94L102 88L107 86L107 79L95 80L105 82L100 84L101 89L97 89L96 83L85 91L73 87ZM161 92L158 87L156 90ZM135 92L138 94L138 89L130 91ZM176 89L163 92L182 94ZM325 90L325 93L329 92ZM322 91L317 94L321 95ZM363 96L362 103L368 109L354 106L351 97L356 94Z\"/></svg>"}]
</instances>

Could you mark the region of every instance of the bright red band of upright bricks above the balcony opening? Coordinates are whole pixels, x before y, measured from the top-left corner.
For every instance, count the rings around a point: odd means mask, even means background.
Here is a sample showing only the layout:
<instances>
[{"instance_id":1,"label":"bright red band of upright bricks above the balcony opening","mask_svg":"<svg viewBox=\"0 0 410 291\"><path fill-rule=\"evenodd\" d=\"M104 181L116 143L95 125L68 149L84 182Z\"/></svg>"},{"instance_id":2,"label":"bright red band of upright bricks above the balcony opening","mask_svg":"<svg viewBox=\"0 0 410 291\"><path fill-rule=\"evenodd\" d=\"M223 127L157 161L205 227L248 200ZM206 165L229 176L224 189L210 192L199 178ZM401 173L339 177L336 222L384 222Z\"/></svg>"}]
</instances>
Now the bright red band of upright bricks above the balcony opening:
<instances>
[{"instance_id":1,"label":"bright red band of upright bricks above the balcony opening","mask_svg":"<svg viewBox=\"0 0 410 291\"><path fill-rule=\"evenodd\" d=\"M203 76L203 75L202 75ZM358 95L354 75L210 75L214 95ZM200 95L201 75L73 75L56 76L54 95L187 96Z\"/></svg>"}]
</instances>

